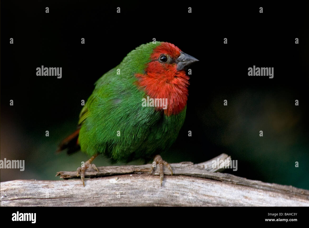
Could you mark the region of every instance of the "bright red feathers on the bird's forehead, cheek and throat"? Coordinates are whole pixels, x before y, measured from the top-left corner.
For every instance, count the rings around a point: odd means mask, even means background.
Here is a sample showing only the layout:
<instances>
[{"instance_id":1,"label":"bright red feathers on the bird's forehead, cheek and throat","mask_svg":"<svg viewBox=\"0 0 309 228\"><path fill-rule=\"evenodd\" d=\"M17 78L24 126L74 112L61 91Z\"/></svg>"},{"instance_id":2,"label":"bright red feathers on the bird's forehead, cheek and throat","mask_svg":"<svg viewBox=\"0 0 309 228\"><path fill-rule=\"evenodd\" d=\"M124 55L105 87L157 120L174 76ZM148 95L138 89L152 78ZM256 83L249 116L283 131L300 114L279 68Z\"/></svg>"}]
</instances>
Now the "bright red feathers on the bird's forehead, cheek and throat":
<instances>
[{"instance_id":1,"label":"bright red feathers on the bird's forehead, cheek and throat","mask_svg":"<svg viewBox=\"0 0 309 228\"><path fill-rule=\"evenodd\" d=\"M167 99L167 106L155 107L167 116L179 114L187 104L189 77L184 70L177 71L176 63L162 64L156 61L161 54L171 58L180 56L174 44L163 42L150 55L145 74L135 74L138 88L144 89L149 98ZM166 100L165 99L165 100Z\"/></svg>"}]
</instances>

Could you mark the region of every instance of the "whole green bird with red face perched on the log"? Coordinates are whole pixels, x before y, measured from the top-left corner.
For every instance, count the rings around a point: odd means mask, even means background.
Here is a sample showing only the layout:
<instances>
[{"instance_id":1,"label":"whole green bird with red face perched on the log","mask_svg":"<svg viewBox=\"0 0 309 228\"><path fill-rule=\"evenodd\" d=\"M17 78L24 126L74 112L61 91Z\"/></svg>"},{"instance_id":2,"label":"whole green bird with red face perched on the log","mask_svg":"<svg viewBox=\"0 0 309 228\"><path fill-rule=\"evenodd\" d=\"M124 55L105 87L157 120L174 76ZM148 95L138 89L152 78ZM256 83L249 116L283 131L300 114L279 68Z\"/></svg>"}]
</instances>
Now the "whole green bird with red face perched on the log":
<instances>
[{"instance_id":1,"label":"whole green bird with red face perched on the log","mask_svg":"<svg viewBox=\"0 0 309 228\"><path fill-rule=\"evenodd\" d=\"M123 61L97 82L79 115L78 129L64 139L57 151L79 148L91 156L77 169L83 185L85 169L104 154L113 161L150 159L169 149L186 115L189 77L185 69L196 58L174 44L150 42L131 51ZM154 157L173 174L160 155ZM152 171L151 167L151 170Z\"/></svg>"}]
</instances>

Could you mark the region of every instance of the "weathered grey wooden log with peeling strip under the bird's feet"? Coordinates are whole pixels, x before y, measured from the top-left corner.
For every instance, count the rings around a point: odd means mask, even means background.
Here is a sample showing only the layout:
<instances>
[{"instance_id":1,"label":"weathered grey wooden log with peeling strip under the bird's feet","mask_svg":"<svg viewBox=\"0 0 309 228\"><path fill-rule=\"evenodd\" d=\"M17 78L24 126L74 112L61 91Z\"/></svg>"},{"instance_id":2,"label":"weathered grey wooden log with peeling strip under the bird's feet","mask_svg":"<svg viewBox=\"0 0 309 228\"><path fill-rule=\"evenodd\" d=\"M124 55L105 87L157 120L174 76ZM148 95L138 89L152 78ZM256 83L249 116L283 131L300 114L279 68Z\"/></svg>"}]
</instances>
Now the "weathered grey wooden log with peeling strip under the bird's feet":
<instances>
[{"instance_id":1,"label":"weathered grey wooden log with peeling strip under the bird's feet","mask_svg":"<svg viewBox=\"0 0 309 228\"><path fill-rule=\"evenodd\" d=\"M218 157L231 159L226 154ZM223 159L222 159L223 160ZM218 173L210 161L171 164L159 177L151 164L98 167L99 178L65 181L14 180L1 183L1 206L309 206L309 191ZM206 167L207 166L207 167ZM153 174L158 175L157 168ZM206 168L206 169L205 169ZM58 172L76 178L76 172ZM87 176L96 177L96 172ZM113 175L113 176L111 176Z\"/></svg>"}]
</instances>

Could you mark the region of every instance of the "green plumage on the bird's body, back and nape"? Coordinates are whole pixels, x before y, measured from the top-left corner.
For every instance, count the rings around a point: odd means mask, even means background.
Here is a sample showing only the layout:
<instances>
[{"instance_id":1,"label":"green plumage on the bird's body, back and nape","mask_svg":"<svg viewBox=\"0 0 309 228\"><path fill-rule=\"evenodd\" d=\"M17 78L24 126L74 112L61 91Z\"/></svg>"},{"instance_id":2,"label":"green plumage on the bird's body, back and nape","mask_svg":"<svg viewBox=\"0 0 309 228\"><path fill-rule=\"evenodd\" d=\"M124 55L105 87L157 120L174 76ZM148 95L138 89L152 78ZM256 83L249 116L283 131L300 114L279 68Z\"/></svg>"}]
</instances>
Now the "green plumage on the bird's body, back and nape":
<instances>
[{"instance_id":1,"label":"green plumage on the bird's body, back and nape","mask_svg":"<svg viewBox=\"0 0 309 228\"><path fill-rule=\"evenodd\" d=\"M80 113L78 141L83 152L128 162L159 154L176 140L186 108L178 115L166 116L155 107L142 107L146 94L134 84L134 74L145 73L150 54L159 44L151 42L131 51L95 83Z\"/></svg>"}]
</instances>

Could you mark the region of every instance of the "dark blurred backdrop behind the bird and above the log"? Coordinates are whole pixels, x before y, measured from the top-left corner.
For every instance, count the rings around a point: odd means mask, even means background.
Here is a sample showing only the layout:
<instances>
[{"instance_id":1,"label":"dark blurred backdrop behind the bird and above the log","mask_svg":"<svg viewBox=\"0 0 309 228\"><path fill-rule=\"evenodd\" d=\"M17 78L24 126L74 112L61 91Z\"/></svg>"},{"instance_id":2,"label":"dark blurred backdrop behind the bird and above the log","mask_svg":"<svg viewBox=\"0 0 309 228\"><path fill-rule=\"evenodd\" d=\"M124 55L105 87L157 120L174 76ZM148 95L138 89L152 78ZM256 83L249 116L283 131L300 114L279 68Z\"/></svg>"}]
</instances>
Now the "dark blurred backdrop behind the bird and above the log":
<instances>
[{"instance_id":1,"label":"dark blurred backdrop behind the bird and above the log","mask_svg":"<svg viewBox=\"0 0 309 228\"><path fill-rule=\"evenodd\" d=\"M26 163L23 172L1 170L1 181L54 179L86 160L54 153L76 128L81 100L155 38L200 60L191 67L184 126L164 160L226 153L239 166L226 172L309 189L308 21L308 4L300 3L1 1L1 159ZM36 76L41 65L62 67L62 78ZM274 78L248 76L253 65L274 67Z\"/></svg>"}]
</instances>

